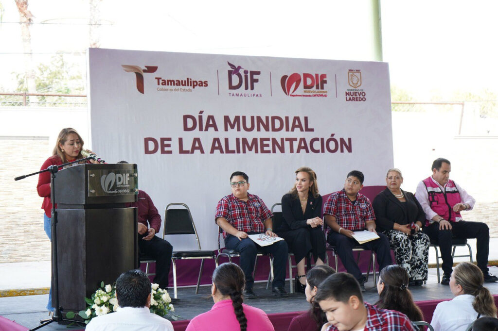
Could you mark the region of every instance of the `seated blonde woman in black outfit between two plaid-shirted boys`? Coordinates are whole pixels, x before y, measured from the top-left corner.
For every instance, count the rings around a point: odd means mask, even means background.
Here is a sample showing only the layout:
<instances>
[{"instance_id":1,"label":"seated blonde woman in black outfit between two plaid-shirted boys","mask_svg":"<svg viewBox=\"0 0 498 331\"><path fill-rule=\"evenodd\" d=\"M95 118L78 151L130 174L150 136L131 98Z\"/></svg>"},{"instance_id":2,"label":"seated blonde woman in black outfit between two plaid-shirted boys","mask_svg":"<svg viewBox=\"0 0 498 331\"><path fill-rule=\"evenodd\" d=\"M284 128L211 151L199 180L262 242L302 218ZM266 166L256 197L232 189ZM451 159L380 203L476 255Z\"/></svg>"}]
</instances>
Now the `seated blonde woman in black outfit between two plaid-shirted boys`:
<instances>
[{"instance_id":1,"label":"seated blonde woman in black outfit between two plaid-shirted boys","mask_svg":"<svg viewBox=\"0 0 498 331\"><path fill-rule=\"evenodd\" d=\"M297 263L296 292L304 293L305 257L311 251L316 265L324 264L325 234L322 225L322 196L318 194L316 174L307 166L296 170L296 182L282 197L284 222L277 232L294 253Z\"/></svg>"}]
</instances>

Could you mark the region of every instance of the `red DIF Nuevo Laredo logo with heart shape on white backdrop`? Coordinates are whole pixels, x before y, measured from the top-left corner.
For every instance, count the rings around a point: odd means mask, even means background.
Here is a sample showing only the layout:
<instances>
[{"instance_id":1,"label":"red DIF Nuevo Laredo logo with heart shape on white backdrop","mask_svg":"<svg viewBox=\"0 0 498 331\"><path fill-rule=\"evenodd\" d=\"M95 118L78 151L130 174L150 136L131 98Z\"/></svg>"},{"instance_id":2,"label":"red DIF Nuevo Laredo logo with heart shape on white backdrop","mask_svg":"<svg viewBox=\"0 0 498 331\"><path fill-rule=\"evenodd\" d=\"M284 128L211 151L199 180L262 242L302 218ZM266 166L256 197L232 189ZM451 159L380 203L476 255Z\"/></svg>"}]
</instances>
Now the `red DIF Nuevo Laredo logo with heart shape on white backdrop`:
<instances>
[{"instance_id":1,"label":"red DIF Nuevo Laredo logo with heart shape on white backdrop","mask_svg":"<svg viewBox=\"0 0 498 331\"><path fill-rule=\"evenodd\" d=\"M288 96L327 97L325 84L327 84L327 74L293 73L280 78L280 86ZM296 94L296 91L300 94Z\"/></svg>"}]
</instances>

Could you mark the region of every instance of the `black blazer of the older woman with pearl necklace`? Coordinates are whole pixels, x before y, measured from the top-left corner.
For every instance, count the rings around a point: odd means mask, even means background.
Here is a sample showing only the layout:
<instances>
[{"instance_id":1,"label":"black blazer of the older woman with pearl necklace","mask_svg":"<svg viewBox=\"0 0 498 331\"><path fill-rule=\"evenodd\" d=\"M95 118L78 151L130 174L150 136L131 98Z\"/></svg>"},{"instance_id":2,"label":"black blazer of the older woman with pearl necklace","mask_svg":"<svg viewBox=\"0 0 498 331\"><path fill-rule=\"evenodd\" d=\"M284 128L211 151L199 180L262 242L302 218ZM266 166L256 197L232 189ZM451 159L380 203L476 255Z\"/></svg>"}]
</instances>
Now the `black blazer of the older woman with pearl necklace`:
<instances>
[{"instance_id":1,"label":"black blazer of the older woman with pearl necklace","mask_svg":"<svg viewBox=\"0 0 498 331\"><path fill-rule=\"evenodd\" d=\"M401 225L410 224L411 222L425 223L425 213L420 203L413 193L403 192L406 202L406 211L400 202L388 188L377 194L373 199L373 211L375 212L375 223L378 231L392 230L394 223Z\"/></svg>"}]
</instances>

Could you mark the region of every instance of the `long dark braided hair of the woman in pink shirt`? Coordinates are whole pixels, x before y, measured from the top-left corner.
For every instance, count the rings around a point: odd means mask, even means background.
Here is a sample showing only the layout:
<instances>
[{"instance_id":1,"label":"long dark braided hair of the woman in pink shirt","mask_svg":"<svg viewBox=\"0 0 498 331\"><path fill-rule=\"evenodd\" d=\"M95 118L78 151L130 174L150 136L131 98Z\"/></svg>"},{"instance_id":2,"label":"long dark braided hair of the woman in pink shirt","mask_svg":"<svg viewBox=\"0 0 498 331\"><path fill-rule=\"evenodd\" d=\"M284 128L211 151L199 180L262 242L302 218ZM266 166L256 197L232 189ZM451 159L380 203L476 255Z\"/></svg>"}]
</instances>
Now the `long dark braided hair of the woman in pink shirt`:
<instances>
[{"instance_id":1,"label":"long dark braided hair of the woman in pink shirt","mask_svg":"<svg viewBox=\"0 0 498 331\"><path fill-rule=\"evenodd\" d=\"M230 296L241 331L246 331L248 320L242 307L242 292L246 286L246 277L241 267L235 263L220 264L213 272L213 283L223 296Z\"/></svg>"}]
</instances>

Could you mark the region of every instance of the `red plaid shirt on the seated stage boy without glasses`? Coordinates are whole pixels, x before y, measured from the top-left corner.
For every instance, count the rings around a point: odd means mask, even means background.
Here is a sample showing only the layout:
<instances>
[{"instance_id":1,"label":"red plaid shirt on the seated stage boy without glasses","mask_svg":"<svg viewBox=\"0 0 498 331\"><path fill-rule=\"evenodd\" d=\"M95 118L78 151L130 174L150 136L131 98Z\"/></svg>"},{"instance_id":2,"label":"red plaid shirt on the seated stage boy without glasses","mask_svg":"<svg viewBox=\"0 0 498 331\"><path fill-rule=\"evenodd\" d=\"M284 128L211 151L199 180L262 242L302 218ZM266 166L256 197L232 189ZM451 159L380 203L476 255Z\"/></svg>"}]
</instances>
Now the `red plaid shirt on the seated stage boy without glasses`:
<instances>
[{"instance_id":1,"label":"red plaid shirt on the seated stage boy without glasses","mask_svg":"<svg viewBox=\"0 0 498 331\"><path fill-rule=\"evenodd\" d=\"M357 193L356 202L353 204L344 189L329 196L323 208L323 214L334 216L337 224L351 231L365 230L365 222L375 221L369 198Z\"/></svg>"}]
</instances>

